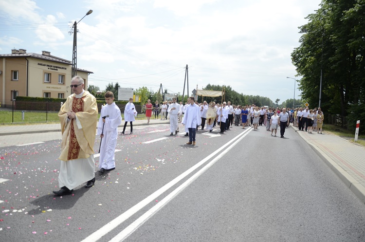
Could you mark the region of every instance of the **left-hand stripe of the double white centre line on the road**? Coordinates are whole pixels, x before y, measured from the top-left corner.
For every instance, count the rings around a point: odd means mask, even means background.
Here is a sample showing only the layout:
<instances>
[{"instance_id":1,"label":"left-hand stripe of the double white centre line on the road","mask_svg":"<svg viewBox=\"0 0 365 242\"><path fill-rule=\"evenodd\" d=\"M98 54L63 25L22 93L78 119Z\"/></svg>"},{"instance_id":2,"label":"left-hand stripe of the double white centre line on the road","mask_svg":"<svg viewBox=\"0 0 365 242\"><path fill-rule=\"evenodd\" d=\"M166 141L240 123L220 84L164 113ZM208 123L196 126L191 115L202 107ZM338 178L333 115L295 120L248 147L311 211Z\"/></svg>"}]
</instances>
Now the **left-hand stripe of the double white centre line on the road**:
<instances>
[{"instance_id":1,"label":"left-hand stripe of the double white centre line on the road","mask_svg":"<svg viewBox=\"0 0 365 242\"><path fill-rule=\"evenodd\" d=\"M146 197L144 200L142 200L138 204L132 206L126 212L122 213L121 215L119 215L118 217L116 217L115 219L113 219L112 221L110 221L109 223L105 224L103 227L101 227L98 230L96 230L95 232L93 232L91 235L89 235L88 237L86 237L81 242L96 242L96 241L98 241L101 237L103 237L104 235L108 234L111 230L113 230L118 225L120 225L121 223L123 223L124 221L126 221L133 214L135 214L136 212L138 212L139 210L141 210L142 208L144 208L150 202L156 200L157 197L159 197L161 194L163 194L169 188L171 188L172 186L174 186L175 184L177 184L178 182L180 182L183 178L185 178L191 172L193 172L194 170L196 170L197 168L199 168L201 165L203 165L209 159L211 159L215 155L219 154L219 152L221 152L221 150L226 149L227 146L229 146L232 142L234 142L240 136L244 135L245 133L248 133L249 130L251 130L251 129L244 130L242 133L238 134L235 138L231 139L226 144L224 144L223 146L221 146L219 149L217 149L216 151L214 151L213 153L211 153L210 155L208 155L207 157L205 157L204 159L202 159L199 163L195 164L193 167L191 167L191 168L187 169L186 171L184 171L178 177L176 177L175 179L173 179L172 181L170 181L166 185L162 186L160 189L158 189L157 191L153 192L151 195L149 195L148 197Z\"/></svg>"}]
</instances>

